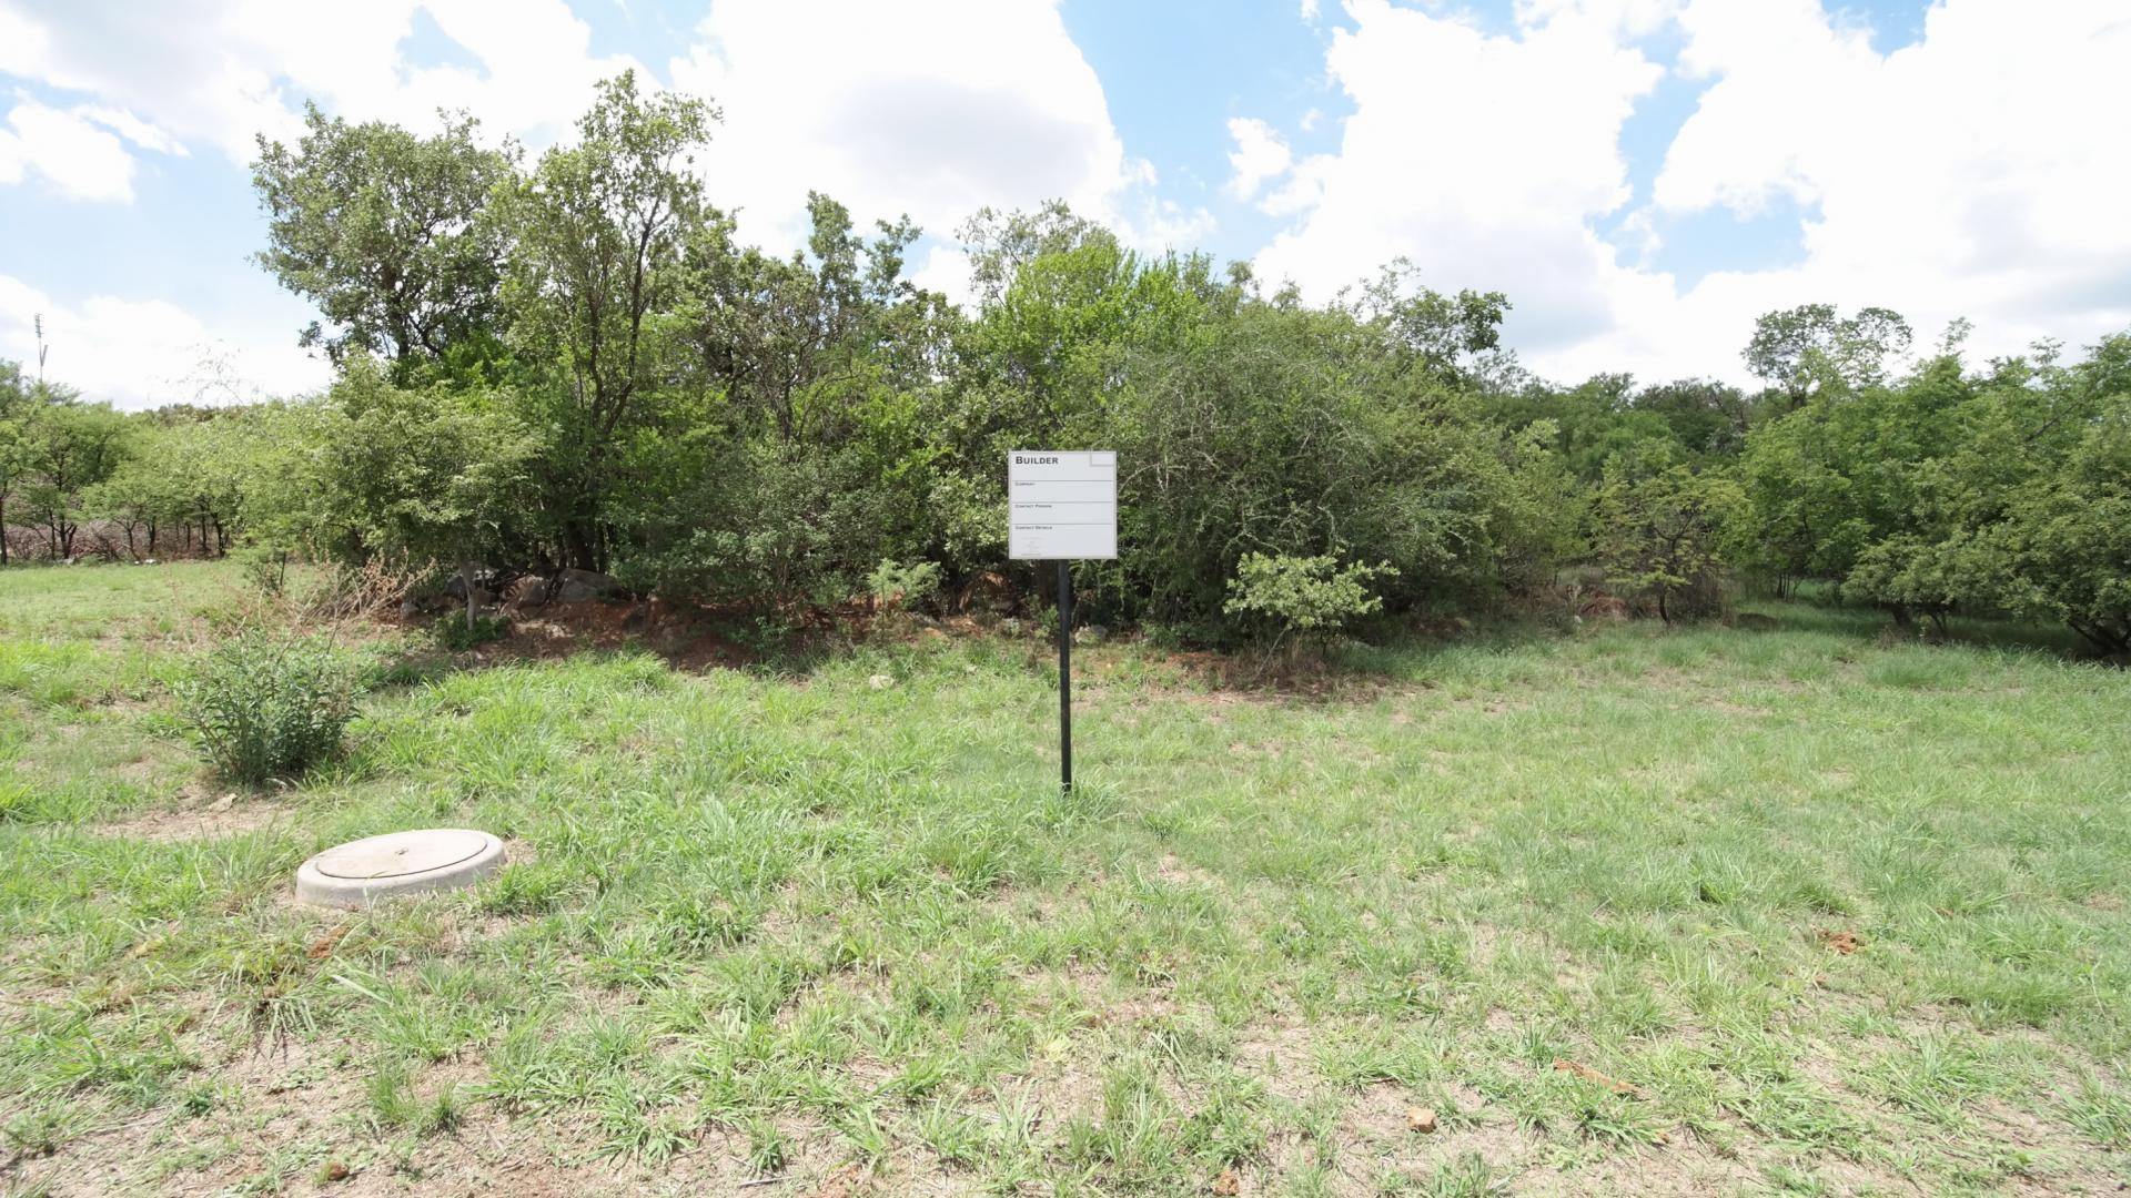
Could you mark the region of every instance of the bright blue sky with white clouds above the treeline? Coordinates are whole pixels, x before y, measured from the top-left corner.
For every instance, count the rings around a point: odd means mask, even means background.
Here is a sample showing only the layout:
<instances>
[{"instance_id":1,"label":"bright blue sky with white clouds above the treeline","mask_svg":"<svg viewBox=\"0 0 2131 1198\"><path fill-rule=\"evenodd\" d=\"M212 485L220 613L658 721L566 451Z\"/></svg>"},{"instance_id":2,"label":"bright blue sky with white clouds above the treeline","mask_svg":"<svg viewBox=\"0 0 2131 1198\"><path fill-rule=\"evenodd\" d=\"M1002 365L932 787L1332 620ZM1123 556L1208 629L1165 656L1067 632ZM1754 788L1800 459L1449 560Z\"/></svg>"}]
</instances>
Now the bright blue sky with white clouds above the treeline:
<instances>
[{"instance_id":1,"label":"bright blue sky with white clouds above the treeline","mask_svg":"<svg viewBox=\"0 0 2131 1198\"><path fill-rule=\"evenodd\" d=\"M2125 0L0 0L0 358L121 407L300 394L251 262L303 104L528 149L633 68L720 109L712 203L925 230L1066 198L1330 298L1500 290L1577 382L1743 377L1762 311L1892 307L1975 358L2131 328Z\"/></svg>"}]
</instances>

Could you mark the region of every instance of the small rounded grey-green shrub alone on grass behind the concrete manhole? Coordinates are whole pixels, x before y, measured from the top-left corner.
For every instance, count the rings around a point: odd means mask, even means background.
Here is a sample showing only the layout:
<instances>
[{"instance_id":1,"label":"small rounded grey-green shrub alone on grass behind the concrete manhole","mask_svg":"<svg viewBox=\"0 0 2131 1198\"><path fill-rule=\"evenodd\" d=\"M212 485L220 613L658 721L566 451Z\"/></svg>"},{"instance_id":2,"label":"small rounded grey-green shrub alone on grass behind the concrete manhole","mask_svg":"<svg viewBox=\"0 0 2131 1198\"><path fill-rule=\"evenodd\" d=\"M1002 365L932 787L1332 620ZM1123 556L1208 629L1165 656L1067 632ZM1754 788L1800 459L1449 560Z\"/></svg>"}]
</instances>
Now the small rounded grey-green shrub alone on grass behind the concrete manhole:
<instances>
[{"instance_id":1,"label":"small rounded grey-green shrub alone on grass behind the concrete manhole","mask_svg":"<svg viewBox=\"0 0 2131 1198\"><path fill-rule=\"evenodd\" d=\"M179 714L226 778L294 778L341 752L354 676L324 637L243 631L177 684Z\"/></svg>"}]
</instances>

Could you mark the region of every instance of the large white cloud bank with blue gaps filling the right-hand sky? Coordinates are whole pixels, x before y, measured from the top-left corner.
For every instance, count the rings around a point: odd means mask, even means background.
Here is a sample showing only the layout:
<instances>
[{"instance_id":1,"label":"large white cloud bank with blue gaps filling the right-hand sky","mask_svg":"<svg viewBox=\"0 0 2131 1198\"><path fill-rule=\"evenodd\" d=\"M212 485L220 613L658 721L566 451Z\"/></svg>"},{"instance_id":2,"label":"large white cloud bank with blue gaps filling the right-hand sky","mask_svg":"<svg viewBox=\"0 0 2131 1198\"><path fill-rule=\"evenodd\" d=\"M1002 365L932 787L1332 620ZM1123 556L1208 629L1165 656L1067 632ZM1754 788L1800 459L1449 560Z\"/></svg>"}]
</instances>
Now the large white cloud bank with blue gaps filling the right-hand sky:
<instances>
[{"instance_id":1,"label":"large white cloud bank with blue gaps filling the right-hand sky","mask_svg":"<svg viewBox=\"0 0 2131 1198\"><path fill-rule=\"evenodd\" d=\"M1347 15L1325 66L1355 113L1338 153L1294 162L1259 203L1298 215L1266 277L1325 294L1409 254L1436 288L1509 292L1504 339L1558 377L1741 379L1754 318L1816 301L1894 307L1926 339L1969 315L1980 354L2131 324L2114 0L1941 0L1886 55L1816 0L1526 0L1496 36L1383 0ZM1669 26L1707 92L1637 200L1620 130L1660 79L1637 38ZM1696 213L1811 215L1801 262L1683 290L1594 232L1626 205L1613 241L1641 254Z\"/></svg>"}]
</instances>

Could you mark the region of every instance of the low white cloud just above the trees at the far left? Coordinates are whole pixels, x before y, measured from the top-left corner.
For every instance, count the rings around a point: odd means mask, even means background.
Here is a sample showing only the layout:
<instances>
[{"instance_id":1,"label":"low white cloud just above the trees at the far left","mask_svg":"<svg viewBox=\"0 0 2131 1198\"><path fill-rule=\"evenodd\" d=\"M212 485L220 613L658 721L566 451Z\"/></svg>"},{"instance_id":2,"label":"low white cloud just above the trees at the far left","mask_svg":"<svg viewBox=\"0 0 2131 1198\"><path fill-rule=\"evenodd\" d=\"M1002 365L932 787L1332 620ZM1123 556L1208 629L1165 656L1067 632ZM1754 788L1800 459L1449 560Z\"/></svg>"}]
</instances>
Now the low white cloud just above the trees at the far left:
<instances>
[{"instance_id":1,"label":"low white cloud just above the trees at the far left","mask_svg":"<svg viewBox=\"0 0 2131 1198\"><path fill-rule=\"evenodd\" d=\"M62 305L9 275L0 275L0 358L36 362L38 315L51 347L47 375L126 409L232 399L224 388L202 390L202 362L243 379L239 396L298 394L330 375L281 328L279 337L230 341L173 303L92 296Z\"/></svg>"}]
</instances>

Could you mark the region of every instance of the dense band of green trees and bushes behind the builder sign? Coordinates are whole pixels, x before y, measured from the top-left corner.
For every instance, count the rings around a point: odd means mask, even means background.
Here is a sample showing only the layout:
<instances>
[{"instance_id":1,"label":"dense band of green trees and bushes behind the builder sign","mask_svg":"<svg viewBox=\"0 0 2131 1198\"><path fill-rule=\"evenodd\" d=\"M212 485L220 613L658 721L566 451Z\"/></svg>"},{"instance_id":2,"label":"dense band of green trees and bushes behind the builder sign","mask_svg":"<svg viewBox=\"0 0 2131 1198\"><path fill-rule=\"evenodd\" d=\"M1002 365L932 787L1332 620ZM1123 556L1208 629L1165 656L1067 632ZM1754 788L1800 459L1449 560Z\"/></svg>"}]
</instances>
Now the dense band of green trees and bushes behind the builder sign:
<instances>
[{"instance_id":1,"label":"dense band of green trees and bushes behind the builder sign","mask_svg":"<svg viewBox=\"0 0 2131 1198\"><path fill-rule=\"evenodd\" d=\"M318 305L332 388L117 416L11 369L0 522L51 556L94 522L132 556L575 567L788 612L884 563L1034 586L1004 456L1087 446L1121 465L1087 603L1204 642L1485 610L1577 567L1662 618L1831 580L1901 620L2131 650L2131 337L1971 367L1958 328L1914 356L1897 313L1803 307L1754 330L1760 392L1560 388L1498 350L1500 294L1394 264L1308 305L1061 205L961 230L965 311L908 277L914 226L861 232L827 196L806 249L739 245L690 164L714 122L627 75L533 160L465 117L313 111L260 145L260 264Z\"/></svg>"}]
</instances>

